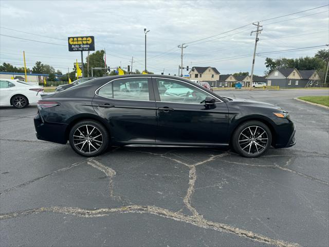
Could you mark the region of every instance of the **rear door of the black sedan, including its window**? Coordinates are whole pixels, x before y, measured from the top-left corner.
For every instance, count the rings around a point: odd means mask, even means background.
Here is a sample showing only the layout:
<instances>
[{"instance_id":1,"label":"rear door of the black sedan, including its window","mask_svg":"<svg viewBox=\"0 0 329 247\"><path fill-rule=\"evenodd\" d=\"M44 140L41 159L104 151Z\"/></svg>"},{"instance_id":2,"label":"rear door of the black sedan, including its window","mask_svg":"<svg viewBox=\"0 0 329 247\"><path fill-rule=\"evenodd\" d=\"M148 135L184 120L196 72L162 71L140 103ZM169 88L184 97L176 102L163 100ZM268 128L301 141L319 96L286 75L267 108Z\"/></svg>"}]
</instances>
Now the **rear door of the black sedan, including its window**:
<instances>
[{"instance_id":1,"label":"rear door of the black sedan, including its window","mask_svg":"<svg viewBox=\"0 0 329 247\"><path fill-rule=\"evenodd\" d=\"M108 122L113 142L155 142L157 119L150 79L114 80L97 92L93 107Z\"/></svg>"}]
</instances>

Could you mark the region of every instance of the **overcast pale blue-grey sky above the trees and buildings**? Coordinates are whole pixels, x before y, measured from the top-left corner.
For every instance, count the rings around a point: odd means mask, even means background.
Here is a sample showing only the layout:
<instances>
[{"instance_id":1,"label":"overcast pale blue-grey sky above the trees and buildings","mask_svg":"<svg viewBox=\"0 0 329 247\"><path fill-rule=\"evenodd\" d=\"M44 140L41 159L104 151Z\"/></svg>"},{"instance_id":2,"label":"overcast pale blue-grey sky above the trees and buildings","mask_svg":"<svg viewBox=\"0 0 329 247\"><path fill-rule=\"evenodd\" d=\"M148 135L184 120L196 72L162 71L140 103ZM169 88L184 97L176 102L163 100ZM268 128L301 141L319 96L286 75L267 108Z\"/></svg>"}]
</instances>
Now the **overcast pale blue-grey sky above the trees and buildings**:
<instances>
[{"instance_id":1,"label":"overcast pale blue-grey sky above the trees and buildings","mask_svg":"<svg viewBox=\"0 0 329 247\"><path fill-rule=\"evenodd\" d=\"M180 49L184 64L216 67L221 74L251 70L255 30L252 22L327 5L325 1L0 1L0 62L22 66L22 52L32 68L42 61L67 72L80 52L69 52L67 37L95 36L96 49L106 48L107 65L144 68L144 28L148 70L178 73ZM329 43L329 8L261 22L257 52ZM308 16L305 16L308 15ZM301 17L305 16L305 17ZM300 17L300 18L297 18ZM293 20L291 20L293 19ZM277 23L278 22L278 23ZM249 24L249 25L248 25ZM247 25L243 28L230 31ZM34 36L19 31L40 34ZM230 31L224 34L223 32ZM216 34L221 34L215 36ZM4 36L6 35L6 36ZM15 39L38 40L53 44ZM205 39L194 42L199 39ZM205 42L207 41L207 42ZM192 42L192 43L191 43ZM318 49L263 55L271 58L313 56ZM87 52L84 52L84 56ZM157 56L157 57L156 57ZM265 58L256 57L255 74L263 75ZM188 73L184 73L188 74Z\"/></svg>"}]
</instances>

